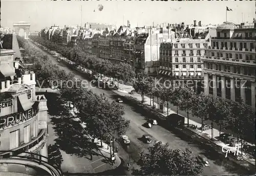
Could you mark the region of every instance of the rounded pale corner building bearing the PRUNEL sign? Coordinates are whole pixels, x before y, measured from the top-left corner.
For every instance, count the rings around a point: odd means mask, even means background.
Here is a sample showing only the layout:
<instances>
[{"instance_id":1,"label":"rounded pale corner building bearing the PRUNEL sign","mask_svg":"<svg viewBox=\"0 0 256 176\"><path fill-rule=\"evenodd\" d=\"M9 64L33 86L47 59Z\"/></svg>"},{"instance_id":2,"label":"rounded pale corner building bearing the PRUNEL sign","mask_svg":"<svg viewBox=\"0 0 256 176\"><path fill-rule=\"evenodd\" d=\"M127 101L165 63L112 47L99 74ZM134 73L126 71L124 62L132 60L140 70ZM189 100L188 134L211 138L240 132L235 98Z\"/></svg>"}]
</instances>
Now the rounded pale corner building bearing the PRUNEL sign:
<instances>
[{"instance_id":1,"label":"rounded pale corner building bearing the PRUNEL sign","mask_svg":"<svg viewBox=\"0 0 256 176\"><path fill-rule=\"evenodd\" d=\"M7 57L13 67L13 53L1 53L1 64ZM35 73L16 78L13 70L0 71L0 175L60 175L47 163L47 99L35 95Z\"/></svg>"}]
</instances>

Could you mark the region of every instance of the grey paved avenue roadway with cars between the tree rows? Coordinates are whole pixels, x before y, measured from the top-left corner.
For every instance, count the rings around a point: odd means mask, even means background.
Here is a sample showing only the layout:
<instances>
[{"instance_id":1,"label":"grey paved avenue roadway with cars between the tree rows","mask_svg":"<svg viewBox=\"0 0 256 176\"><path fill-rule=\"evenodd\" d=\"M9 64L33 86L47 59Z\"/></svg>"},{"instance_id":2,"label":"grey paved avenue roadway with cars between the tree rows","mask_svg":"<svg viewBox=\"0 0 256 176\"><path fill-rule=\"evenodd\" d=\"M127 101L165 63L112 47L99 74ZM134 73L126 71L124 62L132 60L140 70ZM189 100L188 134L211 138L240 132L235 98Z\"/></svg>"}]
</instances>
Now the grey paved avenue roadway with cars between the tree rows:
<instances>
[{"instance_id":1,"label":"grey paved avenue roadway with cars between the tree rows","mask_svg":"<svg viewBox=\"0 0 256 176\"><path fill-rule=\"evenodd\" d=\"M48 54L45 51L42 51L45 54ZM52 60L53 64L59 66L59 68L64 69L68 72L73 72L75 77L81 80L86 79L83 74L79 73L78 71L72 70L67 68L65 64L58 63L56 58L52 57L48 54L49 58ZM93 92L97 94L105 94L106 98L109 100L114 100L113 97L116 96L116 93L109 90L98 89L98 88L90 88ZM227 158L224 158L223 155L215 152L215 149L211 147L210 144L207 143L204 139L198 139L198 137L190 133L188 135L182 135L170 132L165 128L161 127L160 125L154 126L152 129L147 129L142 126L143 123L146 122L146 118L144 115L140 114L136 111L133 107L123 104L125 114L124 118L129 119L130 129L127 131L126 135L129 136L131 140L131 144L129 147L126 145L121 144L118 150L118 156L124 160L124 165L126 165L127 161L130 160L131 164L137 167L134 164L134 161L139 159L139 152L141 150L147 150L148 146L153 144L145 144L143 143L140 138L144 134L149 134L152 136L153 141L159 140L164 143L169 143L171 148L191 148L194 154L200 154L208 158L210 163L209 167L204 167L202 174L204 175L231 175L231 174L253 174L254 172L248 173L247 170L244 170L241 166L229 161ZM130 157L129 157L130 156ZM125 174L129 174L125 172Z\"/></svg>"}]
</instances>

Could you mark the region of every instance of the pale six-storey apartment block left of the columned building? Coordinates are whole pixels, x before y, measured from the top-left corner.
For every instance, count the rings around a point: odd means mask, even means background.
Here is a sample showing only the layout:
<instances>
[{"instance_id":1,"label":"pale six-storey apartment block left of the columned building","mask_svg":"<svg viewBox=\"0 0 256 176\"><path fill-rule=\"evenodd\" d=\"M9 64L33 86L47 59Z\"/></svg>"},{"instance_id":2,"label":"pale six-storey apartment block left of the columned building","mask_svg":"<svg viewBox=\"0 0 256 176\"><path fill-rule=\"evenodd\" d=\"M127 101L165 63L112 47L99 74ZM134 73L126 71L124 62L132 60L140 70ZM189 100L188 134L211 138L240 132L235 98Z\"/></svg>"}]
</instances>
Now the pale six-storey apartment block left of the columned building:
<instances>
[{"instance_id":1,"label":"pale six-storey apartment block left of the columned building","mask_svg":"<svg viewBox=\"0 0 256 176\"><path fill-rule=\"evenodd\" d=\"M205 39L191 39L183 32L182 38L171 39L160 45L159 74L167 79L202 79L205 49L209 46Z\"/></svg>"}]
</instances>

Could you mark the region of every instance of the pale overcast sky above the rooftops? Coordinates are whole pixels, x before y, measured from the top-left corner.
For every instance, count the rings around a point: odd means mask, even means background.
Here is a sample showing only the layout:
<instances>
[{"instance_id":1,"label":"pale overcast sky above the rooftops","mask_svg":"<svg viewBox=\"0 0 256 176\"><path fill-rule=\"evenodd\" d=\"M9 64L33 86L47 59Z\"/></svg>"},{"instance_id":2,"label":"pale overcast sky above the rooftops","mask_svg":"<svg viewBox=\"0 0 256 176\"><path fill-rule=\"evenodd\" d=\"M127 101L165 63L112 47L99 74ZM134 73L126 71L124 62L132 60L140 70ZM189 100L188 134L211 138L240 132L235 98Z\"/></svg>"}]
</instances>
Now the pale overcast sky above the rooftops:
<instances>
[{"instance_id":1,"label":"pale overcast sky above the rooftops","mask_svg":"<svg viewBox=\"0 0 256 176\"><path fill-rule=\"evenodd\" d=\"M98 5L103 10L98 10ZM220 24L227 20L234 23L252 22L255 18L255 1L50 1L50 0L2 0L1 27L10 27L12 23L26 21L31 30L40 30L58 24L63 27L81 23L97 22L120 26L130 20L132 27L159 23L192 24L201 20L202 24ZM95 10L95 12L94 12Z\"/></svg>"}]
</instances>

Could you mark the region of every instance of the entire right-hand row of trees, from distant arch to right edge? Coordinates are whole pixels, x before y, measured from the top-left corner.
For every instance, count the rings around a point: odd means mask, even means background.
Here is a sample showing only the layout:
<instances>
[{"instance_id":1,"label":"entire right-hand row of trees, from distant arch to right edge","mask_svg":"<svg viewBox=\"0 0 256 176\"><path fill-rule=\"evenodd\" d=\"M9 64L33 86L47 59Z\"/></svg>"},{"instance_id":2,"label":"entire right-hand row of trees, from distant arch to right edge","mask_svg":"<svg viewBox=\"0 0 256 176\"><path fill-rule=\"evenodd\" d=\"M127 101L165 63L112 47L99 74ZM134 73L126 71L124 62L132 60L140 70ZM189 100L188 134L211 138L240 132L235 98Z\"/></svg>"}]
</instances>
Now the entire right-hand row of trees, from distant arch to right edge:
<instances>
[{"instance_id":1,"label":"entire right-hand row of trees, from distant arch to right edge","mask_svg":"<svg viewBox=\"0 0 256 176\"><path fill-rule=\"evenodd\" d=\"M254 139L255 129L253 127L254 123L252 123L255 120L254 113L243 103L242 99L238 102L226 102L221 99L212 100L211 97L205 96L204 94L197 94L193 89L183 85L163 85L162 83L158 83L155 78L148 76L144 71L136 70L135 72L127 64L113 65L108 61L83 53L79 47L74 47L68 51L67 47L54 44L40 37L33 36L32 39L48 48L54 49L76 64L82 64L84 67L92 69L95 72L123 81L128 81L135 77L134 88L141 93L142 102L144 95L149 95L153 99L157 97L157 108L159 108L159 101L160 104L167 103L167 107L169 104L173 104L177 106L177 113L178 109L183 110L187 113L188 118L190 114L197 116L201 118L202 124L205 120L209 119L219 125L220 131L224 128L230 129L234 133L237 133L238 137L243 135L252 140ZM106 67L109 69L106 69ZM114 69L117 67L121 69ZM189 125L188 122L187 124Z\"/></svg>"}]
</instances>

